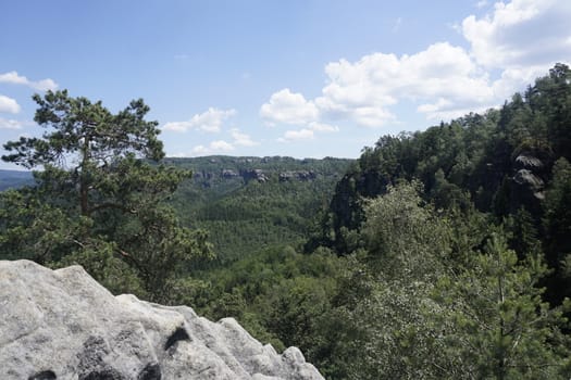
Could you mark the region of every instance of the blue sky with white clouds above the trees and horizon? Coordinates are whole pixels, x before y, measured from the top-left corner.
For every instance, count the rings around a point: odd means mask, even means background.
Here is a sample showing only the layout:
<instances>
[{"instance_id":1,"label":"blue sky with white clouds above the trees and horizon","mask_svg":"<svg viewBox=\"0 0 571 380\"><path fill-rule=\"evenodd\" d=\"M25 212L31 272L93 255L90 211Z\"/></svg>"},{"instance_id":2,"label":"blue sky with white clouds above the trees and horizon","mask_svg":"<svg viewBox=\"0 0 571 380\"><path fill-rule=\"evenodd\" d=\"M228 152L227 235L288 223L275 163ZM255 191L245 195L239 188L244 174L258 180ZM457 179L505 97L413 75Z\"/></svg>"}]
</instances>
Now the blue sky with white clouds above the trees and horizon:
<instances>
[{"instance_id":1,"label":"blue sky with white clouds above the trees and horizon","mask_svg":"<svg viewBox=\"0 0 571 380\"><path fill-rule=\"evenodd\" d=\"M0 0L0 142L41 136L32 96L67 89L142 98L167 156L358 157L569 64L569 0Z\"/></svg>"}]
</instances>

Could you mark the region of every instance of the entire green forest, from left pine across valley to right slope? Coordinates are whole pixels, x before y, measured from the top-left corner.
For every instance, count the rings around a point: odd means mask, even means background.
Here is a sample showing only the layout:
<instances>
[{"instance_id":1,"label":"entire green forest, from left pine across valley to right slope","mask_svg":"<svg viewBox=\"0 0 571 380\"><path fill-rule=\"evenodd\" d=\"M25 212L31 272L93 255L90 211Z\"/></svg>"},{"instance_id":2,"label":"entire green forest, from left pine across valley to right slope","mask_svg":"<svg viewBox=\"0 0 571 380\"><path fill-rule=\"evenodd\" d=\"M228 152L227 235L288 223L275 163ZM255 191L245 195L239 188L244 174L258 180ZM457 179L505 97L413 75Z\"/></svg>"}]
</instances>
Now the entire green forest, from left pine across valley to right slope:
<instances>
[{"instance_id":1,"label":"entire green forest, from left pine across valley to right slope","mask_svg":"<svg viewBox=\"0 0 571 380\"><path fill-rule=\"evenodd\" d=\"M148 105L35 96L0 259L232 316L327 379L571 377L571 69L358 160L170 159Z\"/></svg>"}]
</instances>

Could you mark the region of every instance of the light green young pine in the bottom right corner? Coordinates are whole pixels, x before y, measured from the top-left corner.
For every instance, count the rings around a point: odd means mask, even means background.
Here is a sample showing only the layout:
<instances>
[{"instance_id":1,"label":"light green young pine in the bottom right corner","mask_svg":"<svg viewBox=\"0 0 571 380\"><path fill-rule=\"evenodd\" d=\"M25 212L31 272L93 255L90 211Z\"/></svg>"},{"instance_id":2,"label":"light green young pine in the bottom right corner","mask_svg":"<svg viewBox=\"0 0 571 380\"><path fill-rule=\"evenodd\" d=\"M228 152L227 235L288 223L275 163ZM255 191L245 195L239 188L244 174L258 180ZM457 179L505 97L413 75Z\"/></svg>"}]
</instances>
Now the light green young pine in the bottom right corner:
<instances>
[{"instance_id":1,"label":"light green young pine in the bottom right corner","mask_svg":"<svg viewBox=\"0 0 571 380\"><path fill-rule=\"evenodd\" d=\"M447 306L437 316L449 319L444 349L463 363L462 377L568 377L569 342L560 330L567 319L542 300L547 267L541 256L519 262L494 233L483 253L455 269L439 279L434 297Z\"/></svg>"}]
</instances>

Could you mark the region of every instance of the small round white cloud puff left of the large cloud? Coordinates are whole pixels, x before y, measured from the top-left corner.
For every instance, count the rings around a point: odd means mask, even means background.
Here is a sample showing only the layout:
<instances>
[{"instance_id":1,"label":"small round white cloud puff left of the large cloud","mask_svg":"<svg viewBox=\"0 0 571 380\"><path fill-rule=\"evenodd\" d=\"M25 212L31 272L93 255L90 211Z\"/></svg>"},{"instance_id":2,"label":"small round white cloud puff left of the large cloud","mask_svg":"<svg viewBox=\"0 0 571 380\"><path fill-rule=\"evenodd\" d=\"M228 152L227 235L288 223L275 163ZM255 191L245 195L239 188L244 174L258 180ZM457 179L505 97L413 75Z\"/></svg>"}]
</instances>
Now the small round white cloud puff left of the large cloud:
<instances>
[{"instance_id":1,"label":"small round white cloud puff left of the large cloud","mask_svg":"<svg viewBox=\"0 0 571 380\"><path fill-rule=\"evenodd\" d=\"M319 110L301 93L294 93L285 88L273 93L270 101L261 106L260 116L269 125L303 125L315 122L319 117Z\"/></svg>"}]
</instances>

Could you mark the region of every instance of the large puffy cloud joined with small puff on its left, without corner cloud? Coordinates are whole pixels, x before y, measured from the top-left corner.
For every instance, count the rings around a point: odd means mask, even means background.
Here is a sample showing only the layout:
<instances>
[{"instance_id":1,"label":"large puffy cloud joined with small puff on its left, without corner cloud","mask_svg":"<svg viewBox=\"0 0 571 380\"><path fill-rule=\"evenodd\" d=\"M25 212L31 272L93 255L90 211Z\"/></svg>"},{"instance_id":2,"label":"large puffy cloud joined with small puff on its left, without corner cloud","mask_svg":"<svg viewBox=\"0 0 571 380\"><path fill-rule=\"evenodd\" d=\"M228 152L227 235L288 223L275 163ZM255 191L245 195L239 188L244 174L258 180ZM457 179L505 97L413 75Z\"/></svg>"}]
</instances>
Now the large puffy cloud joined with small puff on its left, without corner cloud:
<instances>
[{"instance_id":1,"label":"large puffy cloud joined with small puff on its left, without corner cloud","mask_svg":"<svg viewBox=\"0 0 571 380\"><path fill-rule=\"evenodd\" d=\"M497 101L488 75L469 52L448 42L411 55L373 53L356 62L339 60L328 63L325 74L327 84L321 97L306 100L301 93L284 89L272 94L260 114L272 124L303 126L307 139L307 131L338 130L323 119L348 119L364 127L396 123L392 106L402 100L419 104L417 111L427 118L460 116ZM299 130L288 132L284 140L299 139Z\"/></svg>"}]
</instances>

